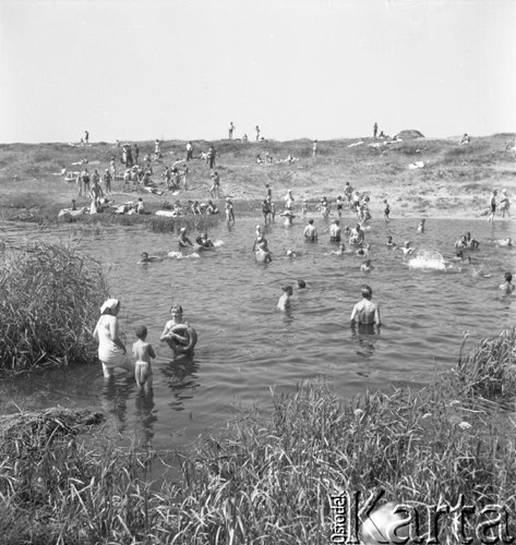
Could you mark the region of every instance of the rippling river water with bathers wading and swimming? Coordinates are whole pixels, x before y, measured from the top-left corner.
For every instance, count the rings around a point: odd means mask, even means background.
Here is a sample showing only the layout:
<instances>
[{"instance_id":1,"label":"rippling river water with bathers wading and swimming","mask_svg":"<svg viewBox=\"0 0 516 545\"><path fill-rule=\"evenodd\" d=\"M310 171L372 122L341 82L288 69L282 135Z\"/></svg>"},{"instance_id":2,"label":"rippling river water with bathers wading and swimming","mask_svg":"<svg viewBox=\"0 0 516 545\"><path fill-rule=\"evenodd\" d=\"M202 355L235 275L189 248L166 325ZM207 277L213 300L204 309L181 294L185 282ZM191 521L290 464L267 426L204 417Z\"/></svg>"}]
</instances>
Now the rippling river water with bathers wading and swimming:
<instances>
[{"instance_id":1,"label":"rippling river water with bathers wading and swimming","mask_svg":"<svg viewBox=\"0 0 516 545\"><path fill-rule=\"evenodd\" d=\"M329 255L335 246L327 233L321 234L327 221L315 217L315 244L303 242L302 222L296 221L290 228L280 220L266 227L274 257L269 265L254 261L256 221L251 219L237 218L235 227L220 222L209 233L219 241L215 252L146 265L136 265L141 252L177 250L175 234L142 227L2 225L8 245L59 239L100 259L111 295L122 300L128 348L134 328L146 325L157 359L152 396L141 396L123 372L106 384L100 364L70 366L0 383L0 413L56 404L101 408L121 437L157 449L181 448L227 421L236 405L257 403L267 410L273 387L292 390L321 375L343 398L392 385L418 387L456 363L465 331L476 339L515 325L515 296L497 290L503 274L514 270L514 249L489 242L512 237L512 221L428 219L423 234L416 219L373 221L365 233L374 250L370 274L359 270L359 256ZM453 259L454 242L466 231L480 242L472 265ZM410 240L422 257L388 251L387 234L397 243ZM296 256L285 256L287 250ZM435 252L451 267L443 270ZM296 284L298 278L307 289L295 289L291 310L279 312L281 284ZM380 303L380 336L356 336L349 328L363 283ZM159 342L172 301L183 306L199 334L193 358L172 360Z\"/></svg>"}]
</instances>

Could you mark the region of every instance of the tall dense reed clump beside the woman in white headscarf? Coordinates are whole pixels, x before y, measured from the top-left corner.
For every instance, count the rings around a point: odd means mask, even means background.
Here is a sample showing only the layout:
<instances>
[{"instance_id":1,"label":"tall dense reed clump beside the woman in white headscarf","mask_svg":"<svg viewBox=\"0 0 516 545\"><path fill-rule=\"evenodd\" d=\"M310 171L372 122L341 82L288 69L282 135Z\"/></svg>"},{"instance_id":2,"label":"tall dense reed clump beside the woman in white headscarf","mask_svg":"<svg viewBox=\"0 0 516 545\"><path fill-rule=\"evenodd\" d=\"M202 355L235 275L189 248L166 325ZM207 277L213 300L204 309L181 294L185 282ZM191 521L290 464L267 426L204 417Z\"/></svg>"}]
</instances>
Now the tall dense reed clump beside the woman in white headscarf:
<instances>
[{"instance_id":1,"label":"tall dense reed clump beside the woman in white headscarf","mask_svg":"<svg viewBox=\"0 0 516 545\"><path fill-rule=\"evenodd\" d=\"M107 287L98 264L74 249L39 243L0 266L0 367L89 363L91 328Z\"/></svg>"}]
</instances>

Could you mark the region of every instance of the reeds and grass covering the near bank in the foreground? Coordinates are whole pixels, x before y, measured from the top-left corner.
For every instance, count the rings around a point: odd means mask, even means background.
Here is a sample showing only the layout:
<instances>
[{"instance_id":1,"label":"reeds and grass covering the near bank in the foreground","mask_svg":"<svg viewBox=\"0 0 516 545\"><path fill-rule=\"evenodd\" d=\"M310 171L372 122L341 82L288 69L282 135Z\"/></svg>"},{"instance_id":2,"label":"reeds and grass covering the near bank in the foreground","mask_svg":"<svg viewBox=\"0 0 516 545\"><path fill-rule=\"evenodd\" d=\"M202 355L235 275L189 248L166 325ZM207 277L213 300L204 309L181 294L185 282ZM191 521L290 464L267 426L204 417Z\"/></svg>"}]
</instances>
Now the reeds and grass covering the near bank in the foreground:
<instances>
[{"instance_id":1,"label":"reeds and grass covering the near bank in the foreground","mask_svg":"<svg viewBox=\"0 0 516 545\"><path fill-rule=\"evenodd\" d=\"M495 389L487 407L460 386L473 382L467 375L477 372L468 370L490 360L488 351L493 359L511 353L514 363L514 331L481 342L472 365L419 391L343 402L322 379L293 393L273 391L272 414L242 408L180 457L181 480L159 487L147 479L152 452L39 427L52 433L37 449L24 447L34 433L0 444L0 535L13 545L331 543L331 497L380 489L417 506L453 506L464 495L476 508L469 535L482 506L503 505L515 535L514 422L493 410ZM506 373L509 365L496 380ZM420 522L423 533L428 521ZM440 543L457 543L454 532L444 521Z\"/></svg>"}]
</instances>

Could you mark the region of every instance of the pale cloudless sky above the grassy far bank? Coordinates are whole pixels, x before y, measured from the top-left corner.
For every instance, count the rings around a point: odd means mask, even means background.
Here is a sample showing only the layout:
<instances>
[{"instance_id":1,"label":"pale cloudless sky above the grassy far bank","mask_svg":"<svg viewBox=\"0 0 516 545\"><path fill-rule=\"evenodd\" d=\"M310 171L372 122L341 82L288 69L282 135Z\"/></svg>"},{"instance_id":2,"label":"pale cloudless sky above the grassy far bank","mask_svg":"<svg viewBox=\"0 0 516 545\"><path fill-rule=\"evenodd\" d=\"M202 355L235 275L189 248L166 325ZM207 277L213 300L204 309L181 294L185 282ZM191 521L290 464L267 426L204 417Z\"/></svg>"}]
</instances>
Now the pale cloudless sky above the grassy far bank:
<instances>
[{"instance_id":1,"label":"pale cloudless sky above the grassy far bank","mask_svg":"<svg viewBox=\"0 0 516 545\"><path fill-rule=\"evenodd\" d=\"M0 0L0 142L516 132L516 0Z\"/></svg>"}]
</instances>

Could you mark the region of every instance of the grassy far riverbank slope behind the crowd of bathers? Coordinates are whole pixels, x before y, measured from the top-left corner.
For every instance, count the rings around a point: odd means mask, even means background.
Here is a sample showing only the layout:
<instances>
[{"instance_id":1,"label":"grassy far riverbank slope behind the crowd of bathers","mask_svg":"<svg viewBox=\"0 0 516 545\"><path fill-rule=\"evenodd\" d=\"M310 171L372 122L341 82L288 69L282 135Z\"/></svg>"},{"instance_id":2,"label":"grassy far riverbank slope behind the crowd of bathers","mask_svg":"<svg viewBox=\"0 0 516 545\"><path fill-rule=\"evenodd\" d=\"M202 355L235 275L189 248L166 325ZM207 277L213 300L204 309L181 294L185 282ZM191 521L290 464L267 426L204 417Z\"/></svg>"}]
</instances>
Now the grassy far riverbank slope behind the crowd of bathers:
<instances>
[{"instance_id":1,"label":"grassy far riverbank slope behind the crowd of bathers","mask_svg":"<svg viewBox=\"0 0 516 545\"><path fill-rule=\"evenodd\" d=\"M383 201L391 205L396 217L481 217L488 210L493 189L516 192L514 152L506 148L514 134L471 138L468 145L457 140L416 138L387 143L372 138L347 138L320 142L317 155L312 157L311 141L242 143L219 141L215 170L220 175L223 196L231 196L237 218L239 215L261 217L261 199L265 184L273 189L277 210L283 209L283 197L292 190L295 209L307 199L315 213L320 198L335 203L344 195L345 183L370 196L373 216L383 215ZM358 144L358 145L357 145ZM154 143L139 143L141 156L152 155ZM193 142L195 155L206 150L211 143ZM153 160L153 180L158 190L166 190L161 172L167 165L184 157L184 142L161 144L163 158ZM256 156L268 154L272 162L256 162ZM290 155L296 160L286 162ZM59 210L76 205L88 206L89 199L76 196L75 183L60 175L64 167L77 171L86 166L92 174L100 174L115 157L118 173L123 172L121 148L107 143L88 147L68 144L4 144L0 145L0 217L48 222L58 218ZM87 160L87 164L80 165ZM206 161L189 161L188 186L177 194L165 191L156 195L144 191L129 191L121 180L113 182L111 204L144 198L148 211L163 207L164 201L180 199L206 202L212 184ZM181 165L179 168L183 168ZM218 202L224 213L224 204ZM335 210L335 207L334 207ZM106 217L99 221L106 221ZM119 221L119 220L117 220ZM135 220L133 220L135 221ZM151 217L137 221L151 222Z\"/></svg>"}]
</instances>

